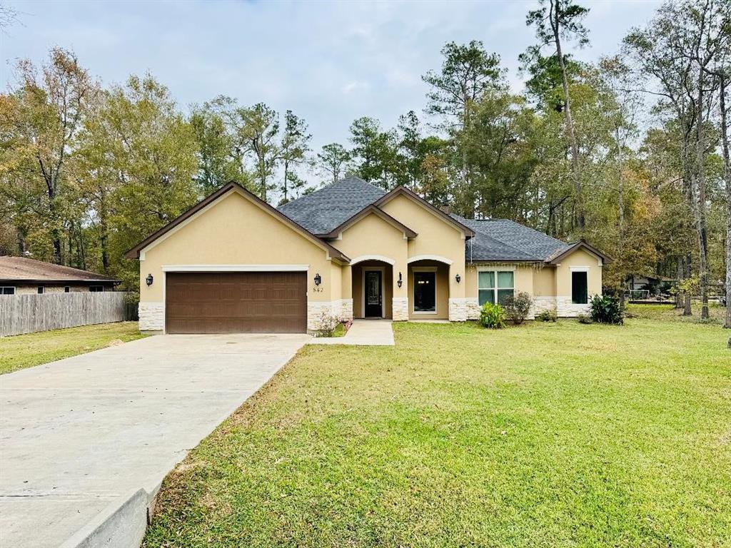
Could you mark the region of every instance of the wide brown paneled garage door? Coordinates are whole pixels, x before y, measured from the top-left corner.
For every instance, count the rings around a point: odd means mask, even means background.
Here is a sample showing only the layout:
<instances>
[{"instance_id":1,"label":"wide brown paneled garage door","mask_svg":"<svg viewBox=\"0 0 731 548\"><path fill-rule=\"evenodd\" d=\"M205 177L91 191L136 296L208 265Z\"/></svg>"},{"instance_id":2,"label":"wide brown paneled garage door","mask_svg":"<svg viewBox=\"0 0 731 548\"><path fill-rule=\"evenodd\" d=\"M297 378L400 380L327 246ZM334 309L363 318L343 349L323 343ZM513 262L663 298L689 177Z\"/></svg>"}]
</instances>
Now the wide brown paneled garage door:
<instances>
[{"instance_id":1,"label":"wide brown paneled garage door","mask_svg":"<svg viewBox=\"0 0 731 548\"><path fill-rule=\"evenodd\" d=\"M304 272L167 273L168 333L303 333Z\"/></svg>"}]
</instances>

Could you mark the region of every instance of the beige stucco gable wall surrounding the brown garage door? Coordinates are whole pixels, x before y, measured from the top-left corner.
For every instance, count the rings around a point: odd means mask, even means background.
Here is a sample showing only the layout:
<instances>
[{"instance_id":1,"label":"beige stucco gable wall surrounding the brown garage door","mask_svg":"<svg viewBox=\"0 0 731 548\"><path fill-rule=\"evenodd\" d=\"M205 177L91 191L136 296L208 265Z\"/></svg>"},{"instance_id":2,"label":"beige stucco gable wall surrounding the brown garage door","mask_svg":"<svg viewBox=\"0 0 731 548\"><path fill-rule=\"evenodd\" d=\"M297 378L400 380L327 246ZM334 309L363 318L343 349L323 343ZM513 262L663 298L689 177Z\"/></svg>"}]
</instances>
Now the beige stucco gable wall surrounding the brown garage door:
<instances>
[{"instance_id":1,"label":"beige stucco gable wall surrounding the brown garage door","mask_svg":"<svg viewBox=\"0 0 731 548\"><path fill-rule=\"evenodd\" d=\"M163 302L163 266L308 265L308 302L341 299L341 267L327 252L238 191L213 202L140 260L140 302ZM142 257L140 257L142 259ZM152 274L154 283L145 284ZM316 288L314 275L322 283Z\"/></svg>"}]
</instances>

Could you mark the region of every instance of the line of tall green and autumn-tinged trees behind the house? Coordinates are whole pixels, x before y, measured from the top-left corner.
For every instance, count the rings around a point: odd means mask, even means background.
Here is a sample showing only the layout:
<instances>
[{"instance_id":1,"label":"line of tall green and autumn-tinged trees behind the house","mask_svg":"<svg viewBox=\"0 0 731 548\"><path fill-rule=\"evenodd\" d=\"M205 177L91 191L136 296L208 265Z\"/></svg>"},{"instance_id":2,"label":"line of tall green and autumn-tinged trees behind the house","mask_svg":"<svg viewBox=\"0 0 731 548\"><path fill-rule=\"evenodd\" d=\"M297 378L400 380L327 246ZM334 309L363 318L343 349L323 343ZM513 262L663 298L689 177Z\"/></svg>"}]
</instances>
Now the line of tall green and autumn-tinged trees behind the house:
<instances>
[{"instance_id":1,"label":"line of tall green and autumn-tinged trees behind the house","mask_svg":"<svg viewBox=\"0 0 731 548\"><path fill-rule=\"evenodd\" d=\"M691 313L700 294L708 316L708 295L731 283L731 4L667 1L596 63L574 55L587 12L542 0L526 15L521 93L482 42L450 42L423 75L423 112L393 128L358 118L348 142L317 151L291 110L230 96L183 110L154 76L102 86L63 48L19 61L0 95L0 252L134 288L124 251L222 184L277 205L352 174L584 238L614 258L606 286L678 278L679 305Z\"/></svg>"}]
</instances>

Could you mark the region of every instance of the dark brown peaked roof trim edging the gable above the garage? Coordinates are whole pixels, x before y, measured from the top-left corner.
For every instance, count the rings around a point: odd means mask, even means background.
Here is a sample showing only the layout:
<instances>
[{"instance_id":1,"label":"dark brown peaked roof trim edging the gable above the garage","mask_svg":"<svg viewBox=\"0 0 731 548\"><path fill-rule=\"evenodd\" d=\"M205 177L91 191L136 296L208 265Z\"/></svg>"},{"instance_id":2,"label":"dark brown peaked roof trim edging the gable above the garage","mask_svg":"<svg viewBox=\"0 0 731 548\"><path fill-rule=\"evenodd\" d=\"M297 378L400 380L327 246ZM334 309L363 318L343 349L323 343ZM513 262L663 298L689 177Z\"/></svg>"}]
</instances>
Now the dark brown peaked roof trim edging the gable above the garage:
<instances>
[{"instance_id":1,"label":"dark brown peaked roof trim edging the gable above the garage","mask_svg":"<svg viewBox=\"0 0 731 548\"><path fill-rule=\"evenodd\" d=\"M243 186L240 186L240 184L236 183L235 181L232 181L230 183L225 184L224 186L221 186L220 189L213 192L213 194L210 194L208 197L205 197L200 202L198 202L196 205L194 205L192 208L187 210L182 215L176 217L173 219L173 221L170 221L170 223L166 224L164 227L159 229L154 234L148 236L143 240L142 242L138 243L137 246L133 247L129 251L126 252L125 256L129 259L137 259L140 258L140 253L142 253L145 248L148 248L148 246L154 245L156 241L160 240L162 237L167 235L171 230L181 227L186 221L192 220L192 218L197 214L200 213L203 209L208 207L209 205L213 204L217 200L221 199L224 196L227 196L231 191L239 192L244 197L249 199L249 202L253 203L255 206L261 208L262 210L265 210L267 213L270 213L271 216L274 218L277 218L279 221L283 222L284 224L287 224L290 228L294 229L296 232L299 232L300 235L303 235L307 237L312 242L316 243L317 246L321 247L325 251L327 251L327 254L329 254L333 259L338 259L341 262L349 262L349 259L342 254L340 251L338 251L333 246L330 246L329 243L325 242L325 240L322 240L320 237L317 237L316 235L309 232L306 228L301 227L299 224L297 224L295 221L292 221L291 218L283 215L278 210L270 206L267 202L260 199L260 197L257 197L255 194L252 194L248 190L244 189Z\"/></svg>"}]
</instances>

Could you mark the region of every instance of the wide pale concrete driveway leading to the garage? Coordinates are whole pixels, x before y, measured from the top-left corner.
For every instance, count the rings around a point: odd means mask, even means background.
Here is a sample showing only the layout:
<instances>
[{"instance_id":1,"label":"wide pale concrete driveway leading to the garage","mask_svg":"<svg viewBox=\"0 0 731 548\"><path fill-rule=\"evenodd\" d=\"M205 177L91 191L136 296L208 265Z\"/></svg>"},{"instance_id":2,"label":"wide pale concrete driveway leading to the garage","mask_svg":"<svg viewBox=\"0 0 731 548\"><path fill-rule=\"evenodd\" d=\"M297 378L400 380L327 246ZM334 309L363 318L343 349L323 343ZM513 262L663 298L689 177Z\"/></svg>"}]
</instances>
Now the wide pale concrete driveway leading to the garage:
<instances>
[{"instance_id":1,"label":"wide pale concrete driveway leading to the garage","mask_svg":"<svg viewBox=\"0 0 731 548\"><path fill-rule=\"evenodd\" d=\"M154 492L309 340L164 335L0 376L0 546L58 547Z\"/></svg>"}]
</instances>

